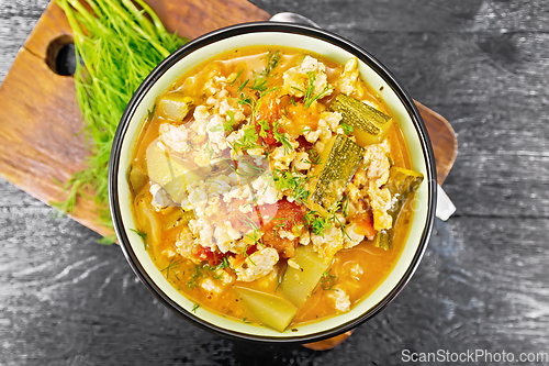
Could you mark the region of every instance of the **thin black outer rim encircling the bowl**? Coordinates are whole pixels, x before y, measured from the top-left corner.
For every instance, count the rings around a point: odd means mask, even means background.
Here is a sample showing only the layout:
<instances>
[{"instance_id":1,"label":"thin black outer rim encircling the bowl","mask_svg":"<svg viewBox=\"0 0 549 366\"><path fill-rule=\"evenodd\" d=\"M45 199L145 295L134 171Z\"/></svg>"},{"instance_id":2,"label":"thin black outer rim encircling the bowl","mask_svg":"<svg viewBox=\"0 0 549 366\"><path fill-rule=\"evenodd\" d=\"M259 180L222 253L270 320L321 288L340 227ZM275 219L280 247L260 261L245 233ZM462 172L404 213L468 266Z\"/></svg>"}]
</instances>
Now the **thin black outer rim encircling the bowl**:
<instances>
[{"instance_id":1,"label":"thin black outer rim encircling the bowl","mask_svg":"<svg viewBox=\"0 0 549 366\"><path fill-rule=\"evenodd\" d=\"M426 177L427 179L425 180L425 182L428 185L427 190L429 197L429 204L427 207L427 218L425 228L423 229L421 235L421 242L417 246L416 253L414 254L407 269L405 270L404 275L401 277L399 282L392 288L392 290L389 293L386 293L386 296L381 301L379 301L376 306L370 308L367 312L362 313L361 315L348 322L341 323L336 328L307 335L271 337L271 336L253 335L243 332L226 330L216 324L206 322L201 318L194 315L193 313L187 311L182 307L178 306L175 301L172 301L169 297L167 297L164 293L164 291L152 280L152 278L148 276L146 270L138 262L132 248L132 245L130 244L130 240L125 233L125 230L123 229L124 223L122 221L121 209L119 206L119 192L116 187L119 186L117 171L120 166L119 158L121 154L122 142L127 132L130 121L132 120L132 117L135 113L137 106L144 99L147 91L169 68L175 66L180 59L186 57L188 54L195 52L209 44L222 41L224 38L229 38L246 33L257 33L257 32L293 33L304 36L311 36L314 38L320 38L321 41L330 43L336 47L340 47L344 51L354 54L365 64L367 64L370 68L372 68L391 87L391 89L399 97L400 101L407 111L422 146L423 156L425 158L425 166L428 175ZM401 84L396 80L394 75L378 59L376 59L369 52L335 33L304 24L281 23L281 22L242 23L215 30L195 40L190 41L189 43L187 43L186 45L183 45L182 47L170 54L158 66L156 66L153 69L153 71L145 78L142 85L137 88L121 118L121 121L116 129L116 133L114 135L110 160L109 160L108 186L109 186L109 207L111 211L111 218L113 221L115 234L119 239L119 243L121 244L120 246L122 248L122 252L126 260L128 262L130 266L134 270L134 273L141 279L141 281L156 296L156 298L164 306L172 310L180 318L183 318L184 320L191 322L192 324L199 325L200 328L211 331L213 333L237 340L270 342L270 343L310 343L310 342L326 340L337 334L341 334L346 331L357 328L363 322L372 319L382 309L384 309L410 281L412 275L415 273L415 270L419 265L419 262L425 253L433 230L436 199L437 199L436 165L427 129L423 122L423 119L413 99L410 97L407 91L401 86Z\"/></svg>"}]
</instances>

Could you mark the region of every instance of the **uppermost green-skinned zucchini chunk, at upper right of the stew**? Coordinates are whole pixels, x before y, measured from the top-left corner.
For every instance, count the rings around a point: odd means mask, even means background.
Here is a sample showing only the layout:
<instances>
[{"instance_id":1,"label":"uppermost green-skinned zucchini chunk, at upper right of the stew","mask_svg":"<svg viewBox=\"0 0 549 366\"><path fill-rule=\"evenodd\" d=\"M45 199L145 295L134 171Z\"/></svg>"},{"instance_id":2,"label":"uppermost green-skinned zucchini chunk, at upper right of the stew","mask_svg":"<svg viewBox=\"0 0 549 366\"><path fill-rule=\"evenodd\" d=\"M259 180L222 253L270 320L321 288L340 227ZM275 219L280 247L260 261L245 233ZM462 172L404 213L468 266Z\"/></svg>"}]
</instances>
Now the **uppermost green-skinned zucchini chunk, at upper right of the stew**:
<instances>
[{"instance_id":1,"label":"uppermost green-skinned zucchini chunk, at upper right of the stew","mask_svg":"<svg viewBox=\"0 0 549 366\"><path fill-rule=\"evenodd\" d=\"M392 122L390 115L343 93L336 97L329 110L341 113L341 123L352 126L352 134L361 146L381 142Z\"/></svg>"}]
</instances>

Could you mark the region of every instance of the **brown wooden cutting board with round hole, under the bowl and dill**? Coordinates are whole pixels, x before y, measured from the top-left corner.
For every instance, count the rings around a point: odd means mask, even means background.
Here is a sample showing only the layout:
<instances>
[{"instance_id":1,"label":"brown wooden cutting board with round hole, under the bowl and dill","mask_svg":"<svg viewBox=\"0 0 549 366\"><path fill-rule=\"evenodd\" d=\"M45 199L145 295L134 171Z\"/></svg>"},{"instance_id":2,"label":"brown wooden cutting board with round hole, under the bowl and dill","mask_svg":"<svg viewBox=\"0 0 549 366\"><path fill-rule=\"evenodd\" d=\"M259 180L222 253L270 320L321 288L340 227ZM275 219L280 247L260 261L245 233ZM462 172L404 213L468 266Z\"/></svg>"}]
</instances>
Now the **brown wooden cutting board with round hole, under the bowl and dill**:
<instances>
[{"instance_id":1,"label":"brown wooden cutting board with round hole, under the bowl and dill","mask_svg":"<svg viewBox=\"0 0 549 366\"><path fill-rule=\"evenodd\" d=\"M270 18L245 0L147 2L169 31L189 38ZM55 45L67 40L71 40L67 19L52 1L0 86L0 176L46 203L65 199L56 181L66 182L83 168L88 154L83 136L78 135L82 123L72 77L59 76L47 65ZM441 185L457 155L456 135L442 117L421 103L417 108L433 142ZM98 222L91 199L79 198L70 215L102 235L112 234Z\"/></svg>"}]
</instances>

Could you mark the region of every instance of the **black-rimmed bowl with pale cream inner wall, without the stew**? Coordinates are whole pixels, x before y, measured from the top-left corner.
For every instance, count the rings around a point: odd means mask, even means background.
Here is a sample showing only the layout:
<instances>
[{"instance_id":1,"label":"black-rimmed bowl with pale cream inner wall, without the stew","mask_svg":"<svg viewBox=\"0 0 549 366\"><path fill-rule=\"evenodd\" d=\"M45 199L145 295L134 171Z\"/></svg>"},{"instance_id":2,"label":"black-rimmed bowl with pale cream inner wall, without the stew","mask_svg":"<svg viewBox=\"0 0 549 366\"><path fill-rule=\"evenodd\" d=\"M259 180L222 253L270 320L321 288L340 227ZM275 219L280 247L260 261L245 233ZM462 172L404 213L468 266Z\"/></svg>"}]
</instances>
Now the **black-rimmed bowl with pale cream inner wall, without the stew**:
<instances>
[{"instance_id":1,"label":"black-rimmed bowl with pale cream inner wall, without the stew","mask_svg":"<svg viewBox=\"0 0 549 366\"><path fill-rule=\"evenodd\" d=\"M192 311L193 302L179 293L160 274L135 229L127 181L132 151L149 110L175 80L193 66L216 54L247 45L279 45L309 49L344 64L359 59L362 78L379 93L399 120L406 137L414 169L424 182L416 193L415 213L403 253L386 279L349 312L283 333L221 317L206 309ZM382 88L381 88L382 87ZM395 77L368 52L327 31L289 23L238 24L205 34L176 51L143 81L122 117L112 146L109 166L109 201L116 236L135 274L169 309L181 318L217 334L240 340L279 343L309 343L351 330L379 313L410 280L425 252L436 207L435 158L425 124L408 93Z\"/></svg>"}]
</instances>

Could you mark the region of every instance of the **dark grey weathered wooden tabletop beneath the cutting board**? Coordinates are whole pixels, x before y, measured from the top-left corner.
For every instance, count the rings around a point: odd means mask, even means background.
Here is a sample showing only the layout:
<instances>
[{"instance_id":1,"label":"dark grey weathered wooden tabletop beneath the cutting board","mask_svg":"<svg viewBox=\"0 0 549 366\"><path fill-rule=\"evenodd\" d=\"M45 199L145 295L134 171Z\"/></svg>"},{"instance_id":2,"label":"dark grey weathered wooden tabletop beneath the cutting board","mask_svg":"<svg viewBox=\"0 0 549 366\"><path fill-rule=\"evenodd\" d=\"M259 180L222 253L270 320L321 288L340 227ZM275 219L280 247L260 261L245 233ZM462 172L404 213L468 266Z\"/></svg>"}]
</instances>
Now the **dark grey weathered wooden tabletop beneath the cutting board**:
<instances>
[{"instance_id":1,"label":"dark grey weathered wooden tabletop beneath the cutting board","mask_svg":"<svg viewBox=\"0 0 549 366\"><path fill-rule=\"evenodd\" d=\"M405 350L549 354L549 2L253 2L369 49L456 130L445 189L458 211L436 221L411 282L333 351L250 346L178 319L117 246L0 181L0 364L395 365ZM0 80L47 3L0 1Z\"/></svg>"}]
</instances>

